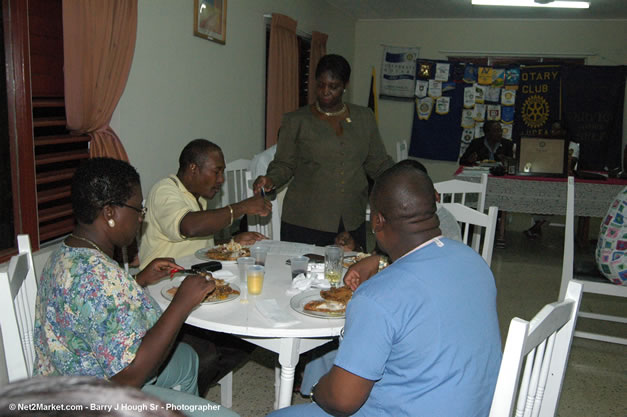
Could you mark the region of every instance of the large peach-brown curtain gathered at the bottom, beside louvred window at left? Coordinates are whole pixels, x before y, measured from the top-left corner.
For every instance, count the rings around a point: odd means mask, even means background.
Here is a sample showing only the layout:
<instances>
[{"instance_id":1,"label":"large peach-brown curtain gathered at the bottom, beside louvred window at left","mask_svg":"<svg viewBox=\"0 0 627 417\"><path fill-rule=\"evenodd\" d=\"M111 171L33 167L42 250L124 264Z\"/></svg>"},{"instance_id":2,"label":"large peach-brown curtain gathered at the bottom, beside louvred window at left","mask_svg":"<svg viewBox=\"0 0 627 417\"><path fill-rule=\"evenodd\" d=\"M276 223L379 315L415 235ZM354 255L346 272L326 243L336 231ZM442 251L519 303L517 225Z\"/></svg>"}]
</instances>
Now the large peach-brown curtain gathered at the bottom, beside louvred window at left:
<instances>
[{"instance_id":1,"label":"large peach-brown curtain gathered at the bottom, beside louvred window at left","mask_svg":"<svg viewBox=\"0 0 627 417\"><path fill-rule=\"evenodd\" d=\"M131 68L137 0L63 0L68 130L91 137L90 156L128 161L109 126Z\"/></svg>"}]
</instances>

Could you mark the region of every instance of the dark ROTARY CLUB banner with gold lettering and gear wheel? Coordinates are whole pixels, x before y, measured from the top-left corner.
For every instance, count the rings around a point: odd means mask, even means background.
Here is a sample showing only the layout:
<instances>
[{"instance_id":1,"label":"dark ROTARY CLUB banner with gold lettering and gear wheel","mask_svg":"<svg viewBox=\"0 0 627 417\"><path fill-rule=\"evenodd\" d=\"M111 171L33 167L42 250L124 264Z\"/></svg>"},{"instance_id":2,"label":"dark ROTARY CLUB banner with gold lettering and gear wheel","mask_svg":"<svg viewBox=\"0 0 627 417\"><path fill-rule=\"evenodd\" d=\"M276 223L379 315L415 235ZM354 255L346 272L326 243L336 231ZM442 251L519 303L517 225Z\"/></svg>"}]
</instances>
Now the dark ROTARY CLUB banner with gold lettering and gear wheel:
<instances>
[{"instance_id":1,"label":"dark ROTARY CLUB banner with gold lettering and gear wheel","mask_svg":"<svg viewBox=\"0 0 627 417\"><path fill-rule=\"evenodd\" d=\"M548 136L562 114L561 76L557 65L526 66L520 70L516 93L514 138Z\"/></svg>"}]
</instances>

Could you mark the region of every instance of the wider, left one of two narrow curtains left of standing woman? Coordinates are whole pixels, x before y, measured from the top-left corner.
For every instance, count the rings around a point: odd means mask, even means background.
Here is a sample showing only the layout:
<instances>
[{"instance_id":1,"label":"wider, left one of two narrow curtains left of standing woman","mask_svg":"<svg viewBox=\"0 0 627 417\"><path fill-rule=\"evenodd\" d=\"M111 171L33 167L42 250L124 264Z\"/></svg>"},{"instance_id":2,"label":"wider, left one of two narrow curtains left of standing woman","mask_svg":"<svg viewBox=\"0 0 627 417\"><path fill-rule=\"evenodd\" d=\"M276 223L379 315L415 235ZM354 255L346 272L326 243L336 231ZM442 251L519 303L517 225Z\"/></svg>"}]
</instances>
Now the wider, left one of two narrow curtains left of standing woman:
<instances>
[{"instance_id":1,"label":"wider, left one of two narrow curtains left of standing woman","mask_svg":"<svg viewBox=\"0 0 627 417\"><path fill-rule=\"evenodd\" d=\"M276 144L283 113L298 108L296 21L272 14L266 97L266 148Z\"/></svg>"}]
</instances>

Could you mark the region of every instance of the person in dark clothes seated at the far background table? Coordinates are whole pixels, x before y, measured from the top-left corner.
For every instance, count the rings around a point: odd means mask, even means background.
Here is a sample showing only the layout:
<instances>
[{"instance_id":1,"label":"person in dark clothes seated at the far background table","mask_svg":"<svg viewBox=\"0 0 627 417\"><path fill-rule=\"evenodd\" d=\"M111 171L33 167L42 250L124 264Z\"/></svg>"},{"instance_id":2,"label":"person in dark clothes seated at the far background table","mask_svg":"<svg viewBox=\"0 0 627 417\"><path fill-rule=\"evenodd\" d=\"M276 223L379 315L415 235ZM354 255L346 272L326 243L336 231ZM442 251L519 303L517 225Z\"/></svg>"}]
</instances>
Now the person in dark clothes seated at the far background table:
<instances>
[{"instance_id":1,"label":"person in dark clothes seated at the far background table","mask_svg":"<svg viewBox=\"0 0 627 417\"><path fill-rule=\"evenodd\" d=\"M474 139L459 159L460 165L474 165L481 161L504 162L506 157L513 157L511 140L503 139L501 123L488 120L483 124L485 136Z\"/></svg>"}]
</instances>

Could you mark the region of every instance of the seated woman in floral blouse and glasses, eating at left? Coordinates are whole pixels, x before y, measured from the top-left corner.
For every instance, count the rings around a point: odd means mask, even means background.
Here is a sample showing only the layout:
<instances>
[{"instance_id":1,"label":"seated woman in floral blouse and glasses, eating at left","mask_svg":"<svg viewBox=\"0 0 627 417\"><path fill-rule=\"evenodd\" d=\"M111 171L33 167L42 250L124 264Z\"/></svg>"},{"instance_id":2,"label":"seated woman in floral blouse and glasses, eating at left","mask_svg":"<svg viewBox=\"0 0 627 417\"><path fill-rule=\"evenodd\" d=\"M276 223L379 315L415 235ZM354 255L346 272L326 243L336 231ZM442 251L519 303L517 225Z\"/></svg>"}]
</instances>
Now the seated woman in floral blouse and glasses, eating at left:
<instances>
[{"instance_id":1,"label":"seated woman in floral blouse and glasses, eating at left","mask_svg":"<svg viewBox=\"0 0 627 417\"><path fill-rule=\"evenodd\" d=\"M198 356L175 341L189 313L215 290L214 281L188 276L162 311L144 287L179 265L157 258L132 277L112 259L115 247L137 236L146 214L139 174L128 163L83 162L71 199L76 226L39 281L33 374L94 376L165 402L210 405L198 396ZM236 414L222 408L215 415Z\"/></svg>"}]
</instances>

